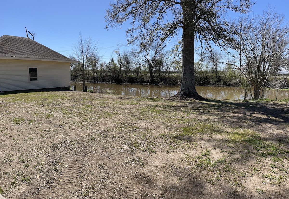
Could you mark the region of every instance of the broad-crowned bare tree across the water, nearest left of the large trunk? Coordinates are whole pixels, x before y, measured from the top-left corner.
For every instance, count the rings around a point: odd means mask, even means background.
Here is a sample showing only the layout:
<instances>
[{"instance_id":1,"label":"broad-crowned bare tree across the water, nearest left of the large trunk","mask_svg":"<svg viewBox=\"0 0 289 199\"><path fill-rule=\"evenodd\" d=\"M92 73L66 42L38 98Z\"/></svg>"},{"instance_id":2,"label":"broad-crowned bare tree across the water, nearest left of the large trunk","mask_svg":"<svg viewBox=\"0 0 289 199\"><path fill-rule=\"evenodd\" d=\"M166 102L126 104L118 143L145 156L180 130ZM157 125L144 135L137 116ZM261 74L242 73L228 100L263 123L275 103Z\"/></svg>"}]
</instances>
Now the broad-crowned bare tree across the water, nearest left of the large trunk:
<instances>
[{"instance_id":1,"label":"broad-crowned bare tree across the water, nearest left of the large trunk","mask_svg":"<svg viewBox=\"0 0 289 199\"><path fill-rule=\"evenodd\" d=\"M138 60L138 65L149 70L149 82L153 79L163 67L165 55L168 51L164 50L165 45L162 41L149 41L137 45L138 49L132 49L133 55Z\"/></svg>"}]
</instances>

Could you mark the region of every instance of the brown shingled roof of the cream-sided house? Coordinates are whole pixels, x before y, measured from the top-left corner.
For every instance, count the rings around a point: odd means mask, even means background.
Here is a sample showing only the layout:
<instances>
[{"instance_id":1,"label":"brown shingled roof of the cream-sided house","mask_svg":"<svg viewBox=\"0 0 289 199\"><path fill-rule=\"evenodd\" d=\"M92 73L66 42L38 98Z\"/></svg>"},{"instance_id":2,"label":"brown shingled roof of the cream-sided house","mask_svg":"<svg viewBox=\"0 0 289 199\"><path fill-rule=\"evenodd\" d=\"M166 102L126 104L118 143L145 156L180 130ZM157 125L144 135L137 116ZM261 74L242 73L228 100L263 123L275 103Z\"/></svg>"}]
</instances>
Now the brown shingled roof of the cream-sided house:
<instances>
[{"instance_id":1,"label":"brown shingled roof of the cream-sided house","mask_svg":"<svg viewBox=\"0 0 289 199\"><path fill-rule=\"evenodd\" d=\"M26 37L0 37L0 59L46 60L79 63Z\"/></svg>"}]
</instances>

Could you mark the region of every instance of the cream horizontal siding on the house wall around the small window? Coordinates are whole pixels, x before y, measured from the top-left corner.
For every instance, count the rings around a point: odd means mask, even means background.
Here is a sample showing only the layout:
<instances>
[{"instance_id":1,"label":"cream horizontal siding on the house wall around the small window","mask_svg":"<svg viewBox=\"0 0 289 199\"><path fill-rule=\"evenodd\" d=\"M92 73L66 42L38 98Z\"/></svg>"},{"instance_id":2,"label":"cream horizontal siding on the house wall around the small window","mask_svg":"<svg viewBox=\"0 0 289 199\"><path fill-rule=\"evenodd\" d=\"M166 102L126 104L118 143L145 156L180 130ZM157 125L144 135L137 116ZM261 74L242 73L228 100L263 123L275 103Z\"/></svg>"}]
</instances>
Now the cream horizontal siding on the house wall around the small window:
<instances>
[{"instance_id":1,"label":"cream horizontal siding on the house wall around the small window","mask_svg":"<svg viewBox=\"0 0 289 199\"><path fill-rule=\"evenodd\" d=\"M37 68L38 81L29 82L28 67ZM0 59L1 91L70 86L70 63Z\"/></svg>"}]
</instances>

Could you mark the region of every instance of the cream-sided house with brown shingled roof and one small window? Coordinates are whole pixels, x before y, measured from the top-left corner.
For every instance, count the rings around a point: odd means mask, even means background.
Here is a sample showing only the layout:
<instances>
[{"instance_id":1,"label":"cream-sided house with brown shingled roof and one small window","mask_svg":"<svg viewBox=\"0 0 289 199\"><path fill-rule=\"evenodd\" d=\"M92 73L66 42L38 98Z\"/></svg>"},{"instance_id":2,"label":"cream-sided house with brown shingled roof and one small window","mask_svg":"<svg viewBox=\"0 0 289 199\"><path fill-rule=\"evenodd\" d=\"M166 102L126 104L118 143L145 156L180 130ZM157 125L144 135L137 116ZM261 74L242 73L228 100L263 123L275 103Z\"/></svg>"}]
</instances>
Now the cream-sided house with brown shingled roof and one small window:
<instances>
[{"instance_id":1,"label":"cream-sided house with brown shingled roof and one small window","mask_svg":"<svg viewBox=\"0 0 289 199\"><path fill-rule=\"evenodd\" d=\"M79 63L32 39L0 37L0 92L70 87L70 63Z\"/></svg>"}]
</instances>

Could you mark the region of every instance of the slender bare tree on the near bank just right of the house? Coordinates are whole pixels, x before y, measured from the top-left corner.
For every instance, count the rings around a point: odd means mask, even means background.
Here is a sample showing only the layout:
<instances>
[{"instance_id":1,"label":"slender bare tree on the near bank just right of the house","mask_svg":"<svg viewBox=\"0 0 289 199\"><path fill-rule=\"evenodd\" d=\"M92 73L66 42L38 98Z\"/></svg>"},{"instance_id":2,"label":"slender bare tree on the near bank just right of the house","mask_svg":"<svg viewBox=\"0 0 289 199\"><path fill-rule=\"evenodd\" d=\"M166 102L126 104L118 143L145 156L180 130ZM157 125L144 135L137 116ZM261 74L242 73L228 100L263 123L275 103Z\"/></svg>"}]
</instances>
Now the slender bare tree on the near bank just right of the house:
<instances>
[{"instance_id":1,"label":"slender bare tree on the near bank just right of the house","mask_svg":"<svg viewBox=\"0 0 289 199\"><path fill-rule=\"evenodd\" d=\"M74 44L73 55L80 61L82 68L82 91L85 91L85 82L88 70L92 67L91 58L99 54L98 43L95 43L91 37L84 39L79 33L78 41Z\"/></svg>"}]
</instances>

